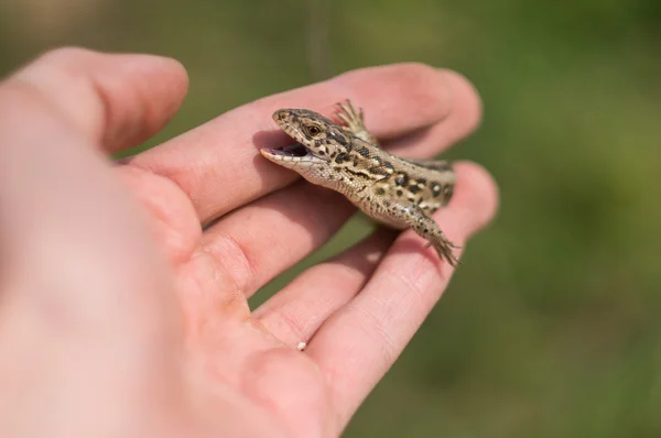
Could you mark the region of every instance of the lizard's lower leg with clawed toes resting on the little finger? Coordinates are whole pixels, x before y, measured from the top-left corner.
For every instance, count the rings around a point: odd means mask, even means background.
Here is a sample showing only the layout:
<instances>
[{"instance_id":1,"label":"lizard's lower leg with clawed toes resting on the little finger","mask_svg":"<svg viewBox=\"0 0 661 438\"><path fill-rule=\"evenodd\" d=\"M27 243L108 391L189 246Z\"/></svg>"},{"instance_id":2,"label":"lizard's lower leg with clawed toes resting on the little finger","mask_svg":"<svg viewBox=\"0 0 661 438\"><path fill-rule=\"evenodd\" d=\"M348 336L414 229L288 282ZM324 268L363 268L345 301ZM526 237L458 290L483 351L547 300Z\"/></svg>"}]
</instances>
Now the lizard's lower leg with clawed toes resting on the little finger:
<instances>
[{"instance_id":1,"label":"lizard's lower leg with clawed toes resting on the little finger","mask_svg":"<svg viewBox=\"0 0 661 438\"><path fill-rule=\"evenodd\" d=\"M413 202L380 200L377 208L371 209L370 216L394 228L412 228L418 234L429 241L426 248L433 245L441 259L447 260L451 266L459 263L453 249L455 245L445 237L438 225Z\"/></svg>"}]
</instances>

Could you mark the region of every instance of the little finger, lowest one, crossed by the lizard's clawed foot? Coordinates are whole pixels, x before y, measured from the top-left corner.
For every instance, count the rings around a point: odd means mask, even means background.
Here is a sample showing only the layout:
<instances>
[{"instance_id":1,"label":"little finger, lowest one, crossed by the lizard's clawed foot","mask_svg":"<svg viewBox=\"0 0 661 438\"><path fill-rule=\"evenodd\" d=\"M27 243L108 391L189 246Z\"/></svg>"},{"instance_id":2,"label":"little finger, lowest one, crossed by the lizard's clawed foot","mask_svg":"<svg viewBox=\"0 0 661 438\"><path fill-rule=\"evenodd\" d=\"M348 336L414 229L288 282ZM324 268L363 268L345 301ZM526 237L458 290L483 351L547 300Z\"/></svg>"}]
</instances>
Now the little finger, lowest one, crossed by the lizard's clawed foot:
<instances>
[{"instance_id":1,"label":"little finger, lowest one, crossed by the lizard's clawed foot","mask_svg":"<svg viewBox=\"0 0 661 438\"><path fill-rule=\"evenodd\" d=\"M463 245L495 215L497 193L481 167L469 163L457 167L455 198L435 217L449 239ZM307 353L329 379L345 423L392 365L449 281L452 267L424 247L412 231L404 232L360 294L328 318L310 342Z\"/></svg>"}]
</instances>

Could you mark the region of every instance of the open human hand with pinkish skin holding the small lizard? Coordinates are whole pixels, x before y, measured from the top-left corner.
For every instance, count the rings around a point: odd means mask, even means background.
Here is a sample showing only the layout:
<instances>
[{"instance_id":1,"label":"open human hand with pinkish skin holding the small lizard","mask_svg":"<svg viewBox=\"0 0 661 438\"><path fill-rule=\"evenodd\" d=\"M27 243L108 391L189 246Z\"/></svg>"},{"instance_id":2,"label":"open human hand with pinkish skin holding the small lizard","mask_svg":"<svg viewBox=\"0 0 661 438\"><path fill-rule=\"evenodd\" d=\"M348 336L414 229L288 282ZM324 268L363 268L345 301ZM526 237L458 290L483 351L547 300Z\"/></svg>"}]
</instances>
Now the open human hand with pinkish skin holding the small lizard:
<instances>
[{"instance_id":1,"label":"open human hand with pinkish skin holding the small lizard","mask_svg":"<svg viewBox=\"0 0 661 438\"><path fill-rule=\"evenodd\" d=\"M478 124L466 79L355 70L109 158L186 90L175 61L78 48L0 85L0 436L337 436L446 287L452 269L421 238L378 230L247 304L355 211L259 156L289 141L271 113L349 98L387 149L432 156ZM465 247L497 190L476 164L456 171L434 218Z\"/></svg>"}]
</instances>

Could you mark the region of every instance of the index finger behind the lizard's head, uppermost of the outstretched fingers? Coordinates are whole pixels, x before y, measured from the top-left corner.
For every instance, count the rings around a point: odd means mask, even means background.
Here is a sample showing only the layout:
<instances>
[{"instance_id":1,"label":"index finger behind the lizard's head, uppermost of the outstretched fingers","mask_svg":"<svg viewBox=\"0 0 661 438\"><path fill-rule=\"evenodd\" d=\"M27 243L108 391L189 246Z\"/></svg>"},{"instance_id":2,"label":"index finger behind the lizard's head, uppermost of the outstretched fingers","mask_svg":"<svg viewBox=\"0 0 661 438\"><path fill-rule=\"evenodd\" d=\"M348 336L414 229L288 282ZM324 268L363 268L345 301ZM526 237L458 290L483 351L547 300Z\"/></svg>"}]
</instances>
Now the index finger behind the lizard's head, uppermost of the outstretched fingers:
<instances>
[{"instance_id":1,"label":"index finger behind the lizard's head, uppermost of the outstretched fingers","mask_svg":"<svg viewBox=\"0 0 661 438\"><path fill-rule=\"evenodd\" d=\"M133 157L131 164L174 180L206 222L297 178L259 155L260 147L291 142L275 129L274 110L300 107L330 114L336 101L350 98L366 109L368 129L393 138L442 120L455 100L465 98L454 96L455 81L448 83L447 76L418 64L351 72L237 108Z\"/></svg>"}]
</instances>

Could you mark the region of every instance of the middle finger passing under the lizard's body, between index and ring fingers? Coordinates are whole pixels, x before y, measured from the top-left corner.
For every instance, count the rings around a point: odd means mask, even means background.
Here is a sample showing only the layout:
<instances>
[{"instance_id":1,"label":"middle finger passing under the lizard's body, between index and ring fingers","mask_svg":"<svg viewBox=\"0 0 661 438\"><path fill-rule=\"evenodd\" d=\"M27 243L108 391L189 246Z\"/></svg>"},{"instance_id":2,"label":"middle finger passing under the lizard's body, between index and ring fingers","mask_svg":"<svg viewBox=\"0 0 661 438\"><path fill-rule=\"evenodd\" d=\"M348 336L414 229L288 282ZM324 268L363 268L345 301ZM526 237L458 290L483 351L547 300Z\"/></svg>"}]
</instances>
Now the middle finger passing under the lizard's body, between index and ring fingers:
<instances>
[{"instance_id":1,"label":"middle finger passing under the lizard's body, between index and ring fingers","mask_svg":"<svg viewBox=\"0 0 661 438\"><path fill-rule=\"evenodd\" d=\"M460 94L455 96L472 98ZM445 143L446 132L453 132L458 138L475 125L475 120L470 120L465 111L460 113L460 119L453 112L454 108L451 108L447 117L438 122L449 127L434 133L437 141L427 141L416 147L419 154L437 154L448 145ZM210 227L205 233L204 248L212 253L218 269L226 272L224 277L232 278L236 291L251 296L268 281L329 239L355 211L349 202L328 191L296 187L266 196L249 205L245 211L237 210ZM314 195L311 196L311 193ZM264 245L264 242L269 244ZM228 253L232 255L227 256Z\"/></svg>"}]
</instances>

